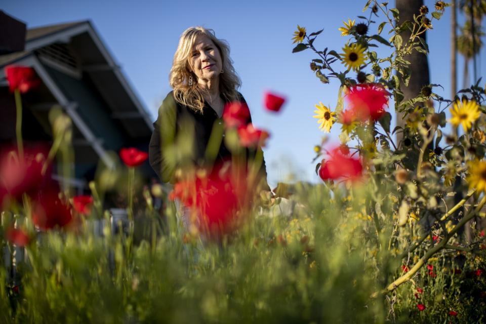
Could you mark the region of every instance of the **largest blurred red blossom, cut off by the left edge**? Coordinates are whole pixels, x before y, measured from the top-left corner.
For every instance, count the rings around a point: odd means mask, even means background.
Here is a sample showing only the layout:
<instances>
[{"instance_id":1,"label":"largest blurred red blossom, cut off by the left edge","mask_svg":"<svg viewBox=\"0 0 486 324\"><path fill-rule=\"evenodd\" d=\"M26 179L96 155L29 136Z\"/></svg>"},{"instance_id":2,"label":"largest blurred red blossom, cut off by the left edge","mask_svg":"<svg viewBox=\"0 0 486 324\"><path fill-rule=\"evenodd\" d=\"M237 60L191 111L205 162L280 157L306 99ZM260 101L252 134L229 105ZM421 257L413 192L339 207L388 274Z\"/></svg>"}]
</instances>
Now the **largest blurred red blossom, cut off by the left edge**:
<instances>
[{"instance_id":1,"label":"largest blurred red blossom, cut off by the left edge","mask_svg":"<svg viewBox=\"0 0 486 324\"><path fill-rule=\"evenodd\" d=\"M35 195L38 190L45 188L50 181L51 171L51 168L47 168L45 174L42 173L47 153L41 147L26 147L21 160L16 149L3 151L0 154L0 198L11 196L20 199L23 193Z\"/></svg>"}]
</instances>

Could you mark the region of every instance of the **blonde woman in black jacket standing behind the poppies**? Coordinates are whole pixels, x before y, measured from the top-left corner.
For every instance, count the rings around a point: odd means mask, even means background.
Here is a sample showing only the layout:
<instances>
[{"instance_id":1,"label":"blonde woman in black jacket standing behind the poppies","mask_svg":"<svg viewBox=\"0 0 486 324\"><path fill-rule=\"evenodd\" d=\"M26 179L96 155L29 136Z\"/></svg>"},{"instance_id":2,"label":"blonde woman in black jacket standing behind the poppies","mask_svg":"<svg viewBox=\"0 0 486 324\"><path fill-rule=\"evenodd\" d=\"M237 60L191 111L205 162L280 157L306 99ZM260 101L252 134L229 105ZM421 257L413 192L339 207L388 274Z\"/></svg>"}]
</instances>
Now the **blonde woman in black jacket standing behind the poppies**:
<instances>
[{"instance_id":1,"label":"blonde woman in black jacket standing behind the poppies","mask_svg":"<svg viewBox=\"0 0 486 324\"><path fill-rule=\"evenodd\" d=\"M221 119L225 105L245 99L229 57L229 46L204 27L186 29L179 40L170 72L173 91L159 108L150 140L150 165L163 182L181 179L176 170L220 170L235 160L225 140ZM251 123L248 115L247 123ZM219 148L218 148L219 147ZM261 149L239 150L244 159L255 159ZM233 155L233 157L232 157ZM259 168L259 188L270 191L265 163Z\"/></svg>"}]
</instances>

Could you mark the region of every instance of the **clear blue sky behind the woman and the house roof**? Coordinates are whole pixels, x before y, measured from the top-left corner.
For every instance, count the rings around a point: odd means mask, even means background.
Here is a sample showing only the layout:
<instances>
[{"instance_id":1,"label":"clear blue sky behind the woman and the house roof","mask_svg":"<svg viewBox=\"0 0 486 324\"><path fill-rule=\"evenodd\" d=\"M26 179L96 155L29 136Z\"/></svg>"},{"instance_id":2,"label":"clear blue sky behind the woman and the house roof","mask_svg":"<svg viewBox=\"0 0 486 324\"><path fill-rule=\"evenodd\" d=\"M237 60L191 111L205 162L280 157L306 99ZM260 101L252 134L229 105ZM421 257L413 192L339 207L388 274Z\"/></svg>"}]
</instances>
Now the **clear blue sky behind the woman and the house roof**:
<instances>
[{"instance_id":1,"label":"clear blue sky behind the woman and the house roof","mask_svg":"<svg viewBox=\"0 0 486 324\"><path fill-rule=\"evenodd\" d=\"M309 62L315 57L310 51L292 54L293 32L297 24L305 26L309 33L324 28L314 45L340 52L347 38L340 36L338 28L343 20L362 15L365 2L16 0L3 2L2 9L28 27L91 20L152 116L171 91L168 75L180 34L195 25L214 29L217 37L230 44L231 57L242 80L240 92L249 103L254 124L271 133L264 151L268 180L273 186L277 181L288 181L290 172L296 179L318 181L311 163L312 148L323 133L312 118L314 105L322 101L333 108L339 86L335 80L323 85L313 75ZM431 9L434 3L425 0ZM390 6L393 4L390 1ZM460 22L463 19L459 16ZM371 32L376 32L376 28L377 25ZM450 11L439 22L434 20L427 37L431 82L441 84L445 91L439 89L439 95L449 98ZM479 76L486 75L485 53L483 49L478 60ZM462 70L459 57L458 71ZM459 88L462 83L459 77ZM280 114L264 111L265 90L288 98ZM339 125L335 125L332 142L339 141L339 132Z\"/></svg>"}]
</instances>

